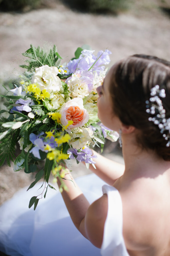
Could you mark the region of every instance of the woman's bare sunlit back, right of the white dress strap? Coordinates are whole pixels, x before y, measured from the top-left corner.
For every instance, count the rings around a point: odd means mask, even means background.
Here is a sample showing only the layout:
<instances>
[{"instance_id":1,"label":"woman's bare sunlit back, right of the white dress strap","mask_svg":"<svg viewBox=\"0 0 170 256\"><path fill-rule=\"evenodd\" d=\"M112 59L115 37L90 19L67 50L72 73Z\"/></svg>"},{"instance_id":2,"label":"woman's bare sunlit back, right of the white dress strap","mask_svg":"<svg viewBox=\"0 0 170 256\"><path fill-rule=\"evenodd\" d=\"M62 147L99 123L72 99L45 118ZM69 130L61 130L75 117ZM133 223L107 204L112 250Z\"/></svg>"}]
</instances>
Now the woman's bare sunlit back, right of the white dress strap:
<instances>
[{"instance_id":1,"label":"woman's bare sunlit back, right of the white dress strap","mask_svg":"<svg viewBox=\"0 0 170 256\"><path fill-rule=\"evenodd\" d=\"M145 253L140 255L170 251L169 180L160 175L155 179L141 178L123 188L120 181L115 184L122 199L123 236L129 251Z\"/></svg>"}]
</instances>

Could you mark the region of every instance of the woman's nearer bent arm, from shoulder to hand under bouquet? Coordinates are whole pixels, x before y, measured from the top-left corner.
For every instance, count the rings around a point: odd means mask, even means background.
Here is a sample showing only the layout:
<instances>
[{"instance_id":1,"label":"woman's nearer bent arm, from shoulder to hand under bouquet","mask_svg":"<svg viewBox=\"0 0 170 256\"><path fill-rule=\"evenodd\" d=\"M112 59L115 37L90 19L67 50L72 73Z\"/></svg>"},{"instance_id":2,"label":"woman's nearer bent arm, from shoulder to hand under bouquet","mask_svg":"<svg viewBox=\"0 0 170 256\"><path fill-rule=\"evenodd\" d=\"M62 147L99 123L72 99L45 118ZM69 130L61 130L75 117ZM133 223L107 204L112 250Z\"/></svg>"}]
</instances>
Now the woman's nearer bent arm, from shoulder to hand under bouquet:
<instances>
[{"instance_id":1,"label":"woman's nearer bent arm, from shoulder to hand under bouquet","mask_svg":"<svg viewBox=\"0 0 170 256\"><path fill-rule=\"evenodd\" d=\"M100 248L107 216L107 196L103 195L90 205L69 171L64 178L68 190L63 190L61 195L74 225L94 246ZM59 178L57 184L61 185Z\"/></svg>"}]
</instances>

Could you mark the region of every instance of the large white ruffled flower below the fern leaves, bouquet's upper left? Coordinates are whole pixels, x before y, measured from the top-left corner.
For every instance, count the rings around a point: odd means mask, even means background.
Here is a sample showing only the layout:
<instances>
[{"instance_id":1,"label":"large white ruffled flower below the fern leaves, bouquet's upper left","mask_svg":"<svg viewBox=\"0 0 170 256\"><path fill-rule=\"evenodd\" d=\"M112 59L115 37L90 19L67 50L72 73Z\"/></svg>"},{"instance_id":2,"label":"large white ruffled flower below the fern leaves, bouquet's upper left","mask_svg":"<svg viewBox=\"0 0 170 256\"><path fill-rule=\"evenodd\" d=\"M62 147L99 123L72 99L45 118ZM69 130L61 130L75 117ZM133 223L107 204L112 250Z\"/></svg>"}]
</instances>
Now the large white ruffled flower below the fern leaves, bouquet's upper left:
<instances>
[{"instance_id":1,"label":"large white ruffled flower below the fern leaves, bouquet's upper left","mask_svg":"<svg viewBox=\"0 0 170 256\"><path fill-rule=\"evenodd\" d=\"M56 93L62 87L62 82L57 74L57 67L45 65L35 69L35 74L32 76L31 82L37 83L41 91L45 89L49 93Z\"/></svg>"}]
</instances>

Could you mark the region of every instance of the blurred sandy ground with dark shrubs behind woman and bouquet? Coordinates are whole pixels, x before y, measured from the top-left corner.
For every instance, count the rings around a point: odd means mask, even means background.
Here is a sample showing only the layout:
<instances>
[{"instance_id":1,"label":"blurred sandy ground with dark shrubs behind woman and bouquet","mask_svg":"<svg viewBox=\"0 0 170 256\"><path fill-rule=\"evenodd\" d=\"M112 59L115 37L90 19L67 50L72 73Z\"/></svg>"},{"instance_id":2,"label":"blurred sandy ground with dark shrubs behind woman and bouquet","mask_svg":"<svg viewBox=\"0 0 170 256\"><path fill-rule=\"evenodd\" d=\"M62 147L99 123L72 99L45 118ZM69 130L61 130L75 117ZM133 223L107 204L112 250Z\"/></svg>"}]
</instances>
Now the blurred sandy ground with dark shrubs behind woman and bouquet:
<instances>
[{"instance_id":1,"label":"blurred sandy ground with dark shrubs behind woman and bouquet","mask_svg":"<svg viewBox=\"0 0 170 256\"><path fill-rule=\"evenodd\" d=\"M170 0L0 0L0 94L5 94L2 84L17 83L21 53L30 44L55 44L65 61L84 44L95 53L108 48L109 67L137 53L170 60ZM106 141L102 154L123 163L117 142ZM2 204L29 186L34 174L14 173L6 164L0 168ZM72 170L74 177L90 173L76 163Z\"/></svg>"}]
</instances>

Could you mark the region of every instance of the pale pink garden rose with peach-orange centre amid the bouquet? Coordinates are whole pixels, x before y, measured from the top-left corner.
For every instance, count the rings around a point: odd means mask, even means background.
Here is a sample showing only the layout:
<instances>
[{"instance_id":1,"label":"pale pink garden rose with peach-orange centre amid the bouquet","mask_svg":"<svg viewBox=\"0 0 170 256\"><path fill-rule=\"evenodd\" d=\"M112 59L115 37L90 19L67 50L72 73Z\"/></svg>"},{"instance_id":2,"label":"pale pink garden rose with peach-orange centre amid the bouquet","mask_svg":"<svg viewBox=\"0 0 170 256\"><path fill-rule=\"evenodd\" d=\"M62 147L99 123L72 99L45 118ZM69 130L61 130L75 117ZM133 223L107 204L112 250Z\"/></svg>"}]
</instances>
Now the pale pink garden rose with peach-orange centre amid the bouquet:
<instances>
[{"instance_id":1,"label":"pale pink garden rose with peach-orange centre amid the bouquet","mask_svg":"<svg viewBox=\"0 0 170 256\"><path fill-rule=\"evenodd\" d=\"M69 125L67 129L83 126L89 120L89 114L83 106L83 100L81 98L74 98L63 104L60 109L62 125L67 125L69 120L73 121L73 124Z\"/></svg>"}]
</instances>

